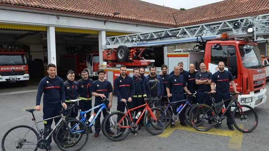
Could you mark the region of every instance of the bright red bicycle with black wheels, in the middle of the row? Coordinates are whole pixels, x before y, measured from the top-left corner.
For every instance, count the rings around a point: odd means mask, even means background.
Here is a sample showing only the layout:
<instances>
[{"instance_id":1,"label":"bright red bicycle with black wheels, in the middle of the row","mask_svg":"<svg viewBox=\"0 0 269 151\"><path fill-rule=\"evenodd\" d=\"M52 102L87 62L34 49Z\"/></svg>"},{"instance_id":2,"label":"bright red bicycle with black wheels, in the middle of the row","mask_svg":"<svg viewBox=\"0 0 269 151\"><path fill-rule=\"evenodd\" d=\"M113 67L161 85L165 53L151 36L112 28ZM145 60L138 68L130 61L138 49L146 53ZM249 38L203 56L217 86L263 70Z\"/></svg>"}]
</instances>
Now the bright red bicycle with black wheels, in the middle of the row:
<instances>
[{"instance_id":1,"label":"bright red bicycle with black wheels, in the middle of the row","mask_svg":"<svg viewBox=\"0 0 269 151\"><path fill-rule=\"evenodd\" d=\"M114 135L108 135L105 133L105 136L113 141L120 141L129 135L130 132L133 132L136 136L138 133L138 123L143 117L144 113L144 124L145 129L147 132L149 132L152 135L159 135L161 134L165 129L165 123L166 123L166 117L164 115L164 112L160 110L159 108L149 108L148 102L154 101L151 103L152 105L157 101L157 98L155 99L147 99L146 103L132 108L128 109L128 106L125 102L125 106L127 108L127 112L112 112L109 114L105 119L104 123L108 123L110 125L110 128L112 128L112 131L114 132ZM141 115L136 120L134 116L131 115L131 111L136 110L138 108L145 107ZM136 120L136 121L135 121ZM149 126L147 126L147 122L149 122ZM103 125L102 128L105 126Z\"/></svg>"}]
</instances>

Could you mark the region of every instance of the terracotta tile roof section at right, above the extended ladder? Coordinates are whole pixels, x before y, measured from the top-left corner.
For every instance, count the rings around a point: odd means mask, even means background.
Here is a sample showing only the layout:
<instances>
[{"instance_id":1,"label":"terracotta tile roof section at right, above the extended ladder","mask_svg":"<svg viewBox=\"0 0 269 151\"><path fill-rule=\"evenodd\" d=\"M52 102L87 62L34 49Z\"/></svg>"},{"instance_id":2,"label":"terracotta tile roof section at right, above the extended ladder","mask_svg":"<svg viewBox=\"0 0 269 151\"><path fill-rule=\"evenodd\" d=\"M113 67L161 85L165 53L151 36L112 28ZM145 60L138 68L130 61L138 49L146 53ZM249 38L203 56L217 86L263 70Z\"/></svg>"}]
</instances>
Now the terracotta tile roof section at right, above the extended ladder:
<instances>
[{"instance_id":1,"label":"terracotta tile roof section at right, above the extended ladder","mask_svg":"<svg viewBox=\"0 0 269 151\"><path fill-rule=\"evenodd\" d=\"M174 16L180 26L268 10L269 0L226 0L180 11Z\"/></svg>"}]
</instances>

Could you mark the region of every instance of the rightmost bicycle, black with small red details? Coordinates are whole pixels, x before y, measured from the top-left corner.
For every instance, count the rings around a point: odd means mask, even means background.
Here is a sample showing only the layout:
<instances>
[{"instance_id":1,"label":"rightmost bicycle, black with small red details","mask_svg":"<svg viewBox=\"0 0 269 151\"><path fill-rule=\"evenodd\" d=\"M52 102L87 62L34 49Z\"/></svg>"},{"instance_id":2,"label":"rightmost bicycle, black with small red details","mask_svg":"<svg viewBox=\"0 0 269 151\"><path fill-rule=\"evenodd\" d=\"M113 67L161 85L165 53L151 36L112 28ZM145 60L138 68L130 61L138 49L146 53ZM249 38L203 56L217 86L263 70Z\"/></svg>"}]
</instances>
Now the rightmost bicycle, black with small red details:
<instances>
[{"instance_id":1,"label":"rightmost bicycle, black with small red details","mask_svg":"<svg viewBox=\"0 0 269 151\"><path fill-rule=\"evenodd\" d=\"M232 113L235 128L243 133L253 131L258 125L258 115L251 106L240 105L237 101L237 97L241 94L242 93L233 93L230 99L216 103L213 106L208 106L206 104L198 104L194 106L189 113L189 119L192 127L198 131L208 131L214 125L221 124L222 120L226 118L224 115L227 112L227 108L230 108L231 104L235 102L236 107ZM230 101L230 103L227 108L223 108L224 102L226 101ZM216 115L216 113L220 113L221 111L223 114L220 117L218 114ZM208 122L206 120L208 120ZM199 125L196 124L197 122ZM242 122L242 124L240 122ZM249 125L251 126L248 128Z\"/></svg>"}]
</instances>

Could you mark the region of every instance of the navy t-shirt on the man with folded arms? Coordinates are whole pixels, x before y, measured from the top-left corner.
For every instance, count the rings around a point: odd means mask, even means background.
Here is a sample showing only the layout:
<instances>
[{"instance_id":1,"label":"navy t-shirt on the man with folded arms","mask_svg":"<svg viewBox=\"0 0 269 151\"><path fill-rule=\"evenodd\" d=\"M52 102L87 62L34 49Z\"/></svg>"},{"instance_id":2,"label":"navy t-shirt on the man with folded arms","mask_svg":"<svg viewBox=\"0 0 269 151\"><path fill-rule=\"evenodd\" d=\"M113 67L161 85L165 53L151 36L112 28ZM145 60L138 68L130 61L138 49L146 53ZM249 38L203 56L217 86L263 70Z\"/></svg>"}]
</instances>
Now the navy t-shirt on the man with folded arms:
<instances>
[{"instance_id":1,"label":"navy t-shirt on the man with folded arms","mask_svg":"<svg viewBox=\"0 0 269 151\"><path fill-rule=\"evenodd\" d=\"M211 80L212 79L212 73L211 72L198 72L195 75L195 80ZM211 91L211 87L210 85L206 85L206 84L200 84L198 85L198 91L200 92L209 92Z\"/></svg>"}]
</instances>

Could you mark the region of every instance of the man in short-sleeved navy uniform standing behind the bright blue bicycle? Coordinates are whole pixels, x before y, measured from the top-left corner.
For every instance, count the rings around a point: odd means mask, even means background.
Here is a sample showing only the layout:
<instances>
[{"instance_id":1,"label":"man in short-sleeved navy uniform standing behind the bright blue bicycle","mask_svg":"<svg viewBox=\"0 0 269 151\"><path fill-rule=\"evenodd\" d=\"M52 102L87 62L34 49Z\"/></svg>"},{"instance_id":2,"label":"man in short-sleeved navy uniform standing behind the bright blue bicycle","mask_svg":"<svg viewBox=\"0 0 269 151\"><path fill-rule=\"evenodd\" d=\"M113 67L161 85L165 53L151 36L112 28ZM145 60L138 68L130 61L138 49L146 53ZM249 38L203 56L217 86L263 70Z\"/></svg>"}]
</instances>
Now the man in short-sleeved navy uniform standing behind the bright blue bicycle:
<instances>
[{"instance_id":1,"label":"man in short-sleeved navy uniform standing behind the bright blue bicycle","mask_svg":"<svg viewBox=\"0 0 269 151\"><path fill-rule=\"evenodd\" d=\"M109 81L105 80L105 71L102 69L99 69L97 71L98 80L94 81L91 86L91 94L95 96L94 99L94 106L100 105L102 102L102 99L109 97L109 102L105 102L105 106L110 109L112 106L112 99L113 99L113 90L112 85ZM99 108L94 109L94 113L97 113ZM103 117L107 115L106 110L102 110ZM94 137L98 137L100 130L101 130L101 123L100 123L100 117L101 114L98 114L98 117L95 119L95 133ZM105 130L109 135L114 135L114 132L110 130L109 123L106 124Z\"/></svg>"}]
</instances>

